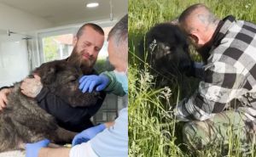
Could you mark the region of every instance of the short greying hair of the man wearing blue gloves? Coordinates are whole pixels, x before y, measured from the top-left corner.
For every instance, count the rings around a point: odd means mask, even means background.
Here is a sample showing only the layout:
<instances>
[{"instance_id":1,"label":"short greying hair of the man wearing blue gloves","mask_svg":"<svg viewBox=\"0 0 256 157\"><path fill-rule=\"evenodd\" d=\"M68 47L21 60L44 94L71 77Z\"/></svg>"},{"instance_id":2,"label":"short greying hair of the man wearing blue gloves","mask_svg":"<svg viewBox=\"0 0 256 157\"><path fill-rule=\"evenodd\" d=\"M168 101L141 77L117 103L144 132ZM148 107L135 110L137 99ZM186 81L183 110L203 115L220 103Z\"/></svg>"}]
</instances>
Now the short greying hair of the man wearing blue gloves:
<instances>
[{"instance_id":1,"label":"short greying hair of the man wearing blue gloves","mask_svg":"<svg viewBox=\"0 0 256 157\"><path fill-rule=\"evenodd\" d=\"M108 33L108 40L114 37L116 44L119 42L128 42L128 14L119 20Z\"/></svg>"}]
</instances>

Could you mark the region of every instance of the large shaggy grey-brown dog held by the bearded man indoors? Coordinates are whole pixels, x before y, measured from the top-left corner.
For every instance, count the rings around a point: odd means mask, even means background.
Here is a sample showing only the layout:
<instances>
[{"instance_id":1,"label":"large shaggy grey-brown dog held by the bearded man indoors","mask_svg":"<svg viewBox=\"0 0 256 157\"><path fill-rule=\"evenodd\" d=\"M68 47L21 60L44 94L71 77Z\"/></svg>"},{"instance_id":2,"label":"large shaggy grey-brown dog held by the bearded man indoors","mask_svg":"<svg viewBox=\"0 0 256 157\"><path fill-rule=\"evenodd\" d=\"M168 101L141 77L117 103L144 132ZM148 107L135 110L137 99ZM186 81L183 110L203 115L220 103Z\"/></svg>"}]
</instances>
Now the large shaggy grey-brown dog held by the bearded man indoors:
<instances>
[{"instance_id":1,"label":"large shaggy grey-brown dog held by the bearded man indoors","mask_svg":"<svg viewBox=\"0 0 256 157\"><path fill-rule=\"evenodd\" d=\"M79 76L82 71L65 60L42 64L34 71L41 77L44 87L56 93L72 106L96 104L99 93L81 93ZM22 149L24 143L44 138L52 142L68 142L74 132L57 125L55 118L41 109L33 98L20 93L20 82L8 96L7 107L0 113L0 152ZM88 102L88 103L86 103Z\"/></svg>"}]
</instances>

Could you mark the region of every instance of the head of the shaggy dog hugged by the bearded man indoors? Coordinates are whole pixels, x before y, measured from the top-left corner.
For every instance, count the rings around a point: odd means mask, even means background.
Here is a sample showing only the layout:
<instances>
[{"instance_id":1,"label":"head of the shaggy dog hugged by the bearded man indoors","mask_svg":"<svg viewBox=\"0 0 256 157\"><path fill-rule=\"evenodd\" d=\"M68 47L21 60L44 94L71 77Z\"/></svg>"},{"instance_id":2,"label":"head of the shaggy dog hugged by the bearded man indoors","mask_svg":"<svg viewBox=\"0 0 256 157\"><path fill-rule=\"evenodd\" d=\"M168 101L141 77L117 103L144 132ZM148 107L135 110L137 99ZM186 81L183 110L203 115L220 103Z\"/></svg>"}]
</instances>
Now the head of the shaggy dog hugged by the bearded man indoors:
<instances>
[{"instance_id":1,"label":"head of the shaggy dog hugged by the bearded man indoors","mask_svg":"<svg viewBox=\"0 0 256 157\"><path fill-rule=\"evenodd\" d=\"M82 93L79 90L79 78L83 73L79 66L65 60L55 60L42 64L34 73L41 77L44 87L72 106L90 106L96 104L100 93ZM90 75L90 74L88 74Z\"/></svg>"}]
</instances>

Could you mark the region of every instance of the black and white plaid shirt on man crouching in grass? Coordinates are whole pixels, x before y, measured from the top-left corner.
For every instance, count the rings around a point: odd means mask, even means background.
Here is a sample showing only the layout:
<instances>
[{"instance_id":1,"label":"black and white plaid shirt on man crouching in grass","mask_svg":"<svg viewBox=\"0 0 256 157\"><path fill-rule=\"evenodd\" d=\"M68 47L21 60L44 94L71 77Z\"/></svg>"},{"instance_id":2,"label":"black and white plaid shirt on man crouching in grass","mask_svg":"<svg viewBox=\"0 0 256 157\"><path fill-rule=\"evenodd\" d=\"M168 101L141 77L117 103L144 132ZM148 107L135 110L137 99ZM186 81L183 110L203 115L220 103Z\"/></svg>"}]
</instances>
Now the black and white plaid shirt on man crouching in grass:
<instances>
[{"instance_id":1,"label":"black and white plaid shirt on man crouching in grass","mask_svg":"<svg viewBox=\"0 0 256 157\"><path fill-rule=\"evenodd\" d=\"M256 117L256 25L228 16L218 25L197 91L177 105L180 121L204 121L236 104Z\"/></svg>"}]
</instances>

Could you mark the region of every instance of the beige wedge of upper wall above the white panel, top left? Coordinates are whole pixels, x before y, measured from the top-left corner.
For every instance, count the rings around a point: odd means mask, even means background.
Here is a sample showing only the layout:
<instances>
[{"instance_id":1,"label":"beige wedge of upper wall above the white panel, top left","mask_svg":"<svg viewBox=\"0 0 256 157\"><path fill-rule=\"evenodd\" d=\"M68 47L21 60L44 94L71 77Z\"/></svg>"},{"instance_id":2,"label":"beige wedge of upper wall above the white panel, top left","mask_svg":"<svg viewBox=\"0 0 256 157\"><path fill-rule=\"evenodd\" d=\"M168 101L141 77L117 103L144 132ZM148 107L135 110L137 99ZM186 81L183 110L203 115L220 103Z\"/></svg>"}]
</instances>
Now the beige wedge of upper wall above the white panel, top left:
<instances>
[{"instance_id":1,"label":"beige wedge of upper wall above the white panel, top left","mask_svg":"<svg viewBox=\"0 0 256 157\"><path fill-rule=\"evenodd\" d=\"M0 3L0 29L10 31L36 31L53 26L43 18Z\"/></svg>"}]
</instances>

